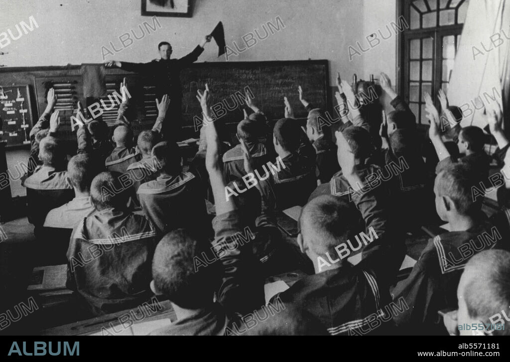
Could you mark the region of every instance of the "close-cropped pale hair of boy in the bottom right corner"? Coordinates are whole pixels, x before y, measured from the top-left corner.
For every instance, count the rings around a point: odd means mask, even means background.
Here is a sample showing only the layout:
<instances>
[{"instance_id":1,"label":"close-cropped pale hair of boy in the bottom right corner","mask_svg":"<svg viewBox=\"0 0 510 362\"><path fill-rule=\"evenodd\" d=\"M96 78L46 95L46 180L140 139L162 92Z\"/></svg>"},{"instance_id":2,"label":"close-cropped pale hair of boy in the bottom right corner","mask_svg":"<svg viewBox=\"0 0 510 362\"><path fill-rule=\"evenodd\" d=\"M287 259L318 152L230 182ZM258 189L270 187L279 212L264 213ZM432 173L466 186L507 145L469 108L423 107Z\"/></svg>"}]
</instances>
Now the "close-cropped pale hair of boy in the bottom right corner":
<instances>
[{"instance_id":1,"label":"close-cropped pale hair of boy in the bottom right corner","mask_svg":"<svg viewBox=\"0 0 510 362\"><path fill-rule=\"evenodd\" d=\"M496 315L504 322L504 330L493 334L510 335L510 322L502 316L510 315L510 253L504 250L486 250L474 255L466 264L465 271L473 270L471 279L464 289L464 299L470 318L482 323L496 322ZM493 328L489 328L493 329Z\"/></svg>"}]
</instances>

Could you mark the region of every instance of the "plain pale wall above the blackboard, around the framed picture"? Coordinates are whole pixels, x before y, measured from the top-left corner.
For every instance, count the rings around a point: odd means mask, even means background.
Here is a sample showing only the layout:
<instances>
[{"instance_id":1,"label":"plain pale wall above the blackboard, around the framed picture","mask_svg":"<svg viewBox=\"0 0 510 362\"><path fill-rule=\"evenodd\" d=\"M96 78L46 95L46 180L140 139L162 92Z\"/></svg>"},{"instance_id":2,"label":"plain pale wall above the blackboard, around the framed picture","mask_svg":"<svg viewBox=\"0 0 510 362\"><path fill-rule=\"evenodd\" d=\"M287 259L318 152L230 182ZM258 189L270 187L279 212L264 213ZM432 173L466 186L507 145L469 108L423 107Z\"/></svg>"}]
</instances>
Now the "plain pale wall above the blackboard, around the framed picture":
<instances>
[{"instance_id":1,"label":"plain pale wall above the blackboard, around the framed picture","mask_svg":"<svg viewBox=\"0 0 510 362\"><path fill-rule=\"evenodd\" d=\"M262 24L281 17L285 29L275 32L256 46L232 57L230 61L302 60L328 59L330 61L331 85L335 84L337 70L349 75L363 71L367 54L363 59L349 62L348 45L363 40L366 30L364 16L372 16L372 9L364 6L367 0L196 0L192 18L158 17L162 25L156 33L135 41L127 49L108 56L108 59L147 62L158 57L157 44L168 40L172 43L173 57L181 57L191 51L219 20L225 26L227 44L242 43L241 37ZM385 4L376 6L376 13L388 12ZM395 2L395 0L390 0ZM375 3L370 1L370 3ZM380 3L380 0L379 0ZM8 66L64 65L102 62L101 46L113 42L121 48L118 39L123 33L134 29L150 17L142 17L140 0L0 0L0 33L15 25L28 23L31 15L39 28L5 46L0 64ZM379 9L381 8L381 9ZM380 19L382 22L386 21ZM370 20L371 24L371 20ZM111 48L111 47L110 47ZM390 49L388 62L394 61L394 49ZM373 50L372 52L376 52ZM209 44L199 61L217 61L217 47ZM225 61L225 58L220 58ZM369 62L371 64L371 62Z\"/></svg>"}]
</instances>

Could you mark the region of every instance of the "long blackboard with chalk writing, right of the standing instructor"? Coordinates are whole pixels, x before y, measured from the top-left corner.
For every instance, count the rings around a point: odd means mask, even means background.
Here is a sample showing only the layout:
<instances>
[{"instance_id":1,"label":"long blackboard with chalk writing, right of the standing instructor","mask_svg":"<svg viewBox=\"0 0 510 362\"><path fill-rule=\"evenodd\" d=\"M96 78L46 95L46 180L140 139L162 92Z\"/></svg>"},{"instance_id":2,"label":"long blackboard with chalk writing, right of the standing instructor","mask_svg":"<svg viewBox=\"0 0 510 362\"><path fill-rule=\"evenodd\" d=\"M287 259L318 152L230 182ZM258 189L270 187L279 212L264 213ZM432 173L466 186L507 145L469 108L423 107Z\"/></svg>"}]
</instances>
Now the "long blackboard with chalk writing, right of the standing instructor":
<instances>
[{"instance_id":1,"label":"long blackboard with chalk writing, right of the standing instructor","mask_svg":"<svg viewBox=\"0 0 510 362\"><path fill-rule=\"evenodd\" d=\"M211 105L224 104L226 115L220 118L221 122L238 123L243 118L239 98L246 87L253 93L254 103L270 119L284 117L284 96L294 108L295 117L307 117L308 112L299 102L298 86L303 88L304 98L315 107L330 108L328 72L327 60L193 64L181 73L183 124L192 127L193 118L201 118L196 94L206 83L212 93ZM238 107L234 109L236 102Z\"/></svg>"}]
</instances>

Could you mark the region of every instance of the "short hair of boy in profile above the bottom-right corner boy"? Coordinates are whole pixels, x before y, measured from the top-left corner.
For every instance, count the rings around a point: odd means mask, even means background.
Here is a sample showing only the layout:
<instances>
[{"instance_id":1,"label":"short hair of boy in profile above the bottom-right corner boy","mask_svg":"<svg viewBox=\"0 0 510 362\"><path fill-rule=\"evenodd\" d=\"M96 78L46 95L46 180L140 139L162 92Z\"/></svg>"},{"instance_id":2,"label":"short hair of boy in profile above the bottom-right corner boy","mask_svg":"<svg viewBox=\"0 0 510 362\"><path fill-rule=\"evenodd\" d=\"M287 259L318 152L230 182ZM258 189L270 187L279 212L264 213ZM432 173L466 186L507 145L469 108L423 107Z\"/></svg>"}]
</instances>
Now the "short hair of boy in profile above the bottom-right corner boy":
<instances>
[{"instance_id":1,"label":"short hair of boy in profile above the bottom-right corner boy","mask_svg":"<svg viewBox=\"0 0 510 362\"><path fill-rule=\"evenodd\" d=\"M462 215L472 214L481 204L472 196L473 187L479 187L480 177L465 163L454 163L442 168L436 176L438 196L447 196Z\"/></svg>"}]
</instances>

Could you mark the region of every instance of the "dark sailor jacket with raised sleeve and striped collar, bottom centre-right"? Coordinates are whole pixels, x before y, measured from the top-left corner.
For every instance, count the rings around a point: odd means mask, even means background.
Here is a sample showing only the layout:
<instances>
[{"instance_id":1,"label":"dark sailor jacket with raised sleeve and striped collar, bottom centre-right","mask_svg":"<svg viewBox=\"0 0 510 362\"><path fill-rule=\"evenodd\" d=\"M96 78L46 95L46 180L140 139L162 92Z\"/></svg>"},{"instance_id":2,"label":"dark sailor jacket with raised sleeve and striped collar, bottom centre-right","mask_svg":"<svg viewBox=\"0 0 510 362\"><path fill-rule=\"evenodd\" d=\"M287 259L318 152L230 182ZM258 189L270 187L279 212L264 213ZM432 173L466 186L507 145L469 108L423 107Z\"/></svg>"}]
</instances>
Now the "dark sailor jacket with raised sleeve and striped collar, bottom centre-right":
<instances>
[{"instance_id":1,"label":"dark sailor jacket with raised sleeve and striped collar, bottom centre-right","mask_svg":"<svg viewBox=\"0 0 510 362\"><path fill-rule=\"evenodd\" d=\"M360 263L344 261L341 267L305 277L273 297L302 306L331 335L388 334L393 327L388 289L393 272L388 266L398 263L399 242L385 230L387 213L370 194L353 195L367 230L373 227L378 236L365 247Z\"/></svg>"}]
</instances>

